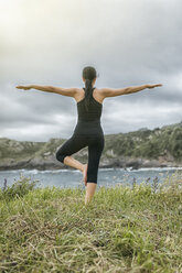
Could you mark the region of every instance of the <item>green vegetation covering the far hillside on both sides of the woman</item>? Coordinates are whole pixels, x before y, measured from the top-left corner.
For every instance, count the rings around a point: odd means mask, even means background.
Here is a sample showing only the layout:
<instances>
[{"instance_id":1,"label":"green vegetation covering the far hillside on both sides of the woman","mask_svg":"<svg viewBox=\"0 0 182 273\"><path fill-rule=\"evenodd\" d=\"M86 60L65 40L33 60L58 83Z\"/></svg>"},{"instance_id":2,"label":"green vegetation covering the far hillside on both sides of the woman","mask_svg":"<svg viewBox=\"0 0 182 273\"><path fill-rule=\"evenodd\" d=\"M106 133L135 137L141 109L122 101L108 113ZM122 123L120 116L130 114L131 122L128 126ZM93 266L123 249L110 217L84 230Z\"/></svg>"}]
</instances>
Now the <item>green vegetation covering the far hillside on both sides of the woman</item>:
<instances>
[{"instance_id":1,"label":"green vegetation covering the far hillside on both sides of the woman","mask_svg":"<svg viewBox=\"0 0 182 273\"><path fill-rule=\"evenodd\" d=\"M129 133L105 135L105 149L101 161L105 159L131 157L159 160L162 156L167 162L182 163L182 122L165 125L154 130L142 129ZM0 139L0 163L9 165L20 163L24 160L39 162L52 161L54 163L55 152L65 139L51 139L47 142L15 141L7 138ZM74 155L76 160L86 162L87 148ZM56 162L57 163L57 162ZM34 166L33 165L33 166ZM19 167L21 164L19 164ZM24 167L24 165L22 165Z\"/></svg>"}]
</instances>

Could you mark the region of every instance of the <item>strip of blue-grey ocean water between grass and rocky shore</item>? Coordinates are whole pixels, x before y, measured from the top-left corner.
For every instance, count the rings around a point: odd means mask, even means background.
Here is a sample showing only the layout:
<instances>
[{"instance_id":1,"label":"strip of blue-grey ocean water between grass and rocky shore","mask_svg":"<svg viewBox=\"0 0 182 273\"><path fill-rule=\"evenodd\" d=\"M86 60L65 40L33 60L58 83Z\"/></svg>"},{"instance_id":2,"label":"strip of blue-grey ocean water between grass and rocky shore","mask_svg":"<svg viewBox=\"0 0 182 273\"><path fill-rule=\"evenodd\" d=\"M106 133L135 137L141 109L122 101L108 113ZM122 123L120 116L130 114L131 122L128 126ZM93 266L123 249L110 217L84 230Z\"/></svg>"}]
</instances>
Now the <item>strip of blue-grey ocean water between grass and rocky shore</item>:
<instances>
[{"instance_id":1,"label":"strip of blue-grey ocean water between grass and rocky shore","mask_svg":"<svg viewBox=\"0 0 182 273\"><path fill-rule=\"evenodd\" d=\"M77 188L85 185L83 183L83 174L77 170L13 170L0 171L0 187L3 187L4 179L7 185L11 186L20 179L21 176L31 178L31 181L39 181L35 187L60 187L60 188ZM100 186L114 187L117 184L140 184L142 182L153 183L158 179L162 183L164 179L172 179L173 177L182 179L182 167L153 167L153 168L99 168L97 188Z\"/></svg>"}]
</instances>

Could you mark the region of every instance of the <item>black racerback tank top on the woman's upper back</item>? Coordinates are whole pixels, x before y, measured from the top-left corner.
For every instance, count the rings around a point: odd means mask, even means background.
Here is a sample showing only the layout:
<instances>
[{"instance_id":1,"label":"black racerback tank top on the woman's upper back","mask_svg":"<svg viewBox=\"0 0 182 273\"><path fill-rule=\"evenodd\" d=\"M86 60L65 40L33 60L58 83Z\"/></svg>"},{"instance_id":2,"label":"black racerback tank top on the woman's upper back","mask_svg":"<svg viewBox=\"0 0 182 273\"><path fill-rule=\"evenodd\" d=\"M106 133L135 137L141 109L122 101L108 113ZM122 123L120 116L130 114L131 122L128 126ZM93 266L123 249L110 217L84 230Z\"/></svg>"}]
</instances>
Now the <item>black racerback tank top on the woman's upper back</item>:
<instances>
[{"instance_id":1,"label":"black racerback tank top on the woman's upper back","mask_svg":"<svg viewBox=\"0 0 182 273\"><path fill-rule=\"evenodd\" d=\"M85 90L85 88L83 88ZM95 100L93 97L93 91L95 87L92 89L92 96L89 100L88 111L85 107L85 98L77 102L77 113L78 121L97 121L100 122L103 105Z\"/></svg>"}]
</instances>

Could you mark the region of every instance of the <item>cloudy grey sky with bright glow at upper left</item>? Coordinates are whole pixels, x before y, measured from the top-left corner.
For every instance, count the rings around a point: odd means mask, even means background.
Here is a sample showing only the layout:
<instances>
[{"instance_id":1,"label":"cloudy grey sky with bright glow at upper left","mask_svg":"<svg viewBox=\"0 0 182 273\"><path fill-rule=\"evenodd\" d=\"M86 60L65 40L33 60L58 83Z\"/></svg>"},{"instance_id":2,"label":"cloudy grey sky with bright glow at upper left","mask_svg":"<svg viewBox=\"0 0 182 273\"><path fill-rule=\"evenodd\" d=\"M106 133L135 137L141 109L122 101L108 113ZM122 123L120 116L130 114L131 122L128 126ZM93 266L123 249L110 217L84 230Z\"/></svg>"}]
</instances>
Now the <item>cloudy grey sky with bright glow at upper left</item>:
<instances>
[{"instance_id":1,"label":"cloudy grey sky with bright glow at upper left","mask_svg":"<svg viewBox=\"0 0 182 273\"><path fill-rule=\"evenodd\" d=\"M71 138L72 97L17 85L162 87L105 98L105 134L182 121L181 0L0 0L0 138Z\"/></svg>"}]
</instances>

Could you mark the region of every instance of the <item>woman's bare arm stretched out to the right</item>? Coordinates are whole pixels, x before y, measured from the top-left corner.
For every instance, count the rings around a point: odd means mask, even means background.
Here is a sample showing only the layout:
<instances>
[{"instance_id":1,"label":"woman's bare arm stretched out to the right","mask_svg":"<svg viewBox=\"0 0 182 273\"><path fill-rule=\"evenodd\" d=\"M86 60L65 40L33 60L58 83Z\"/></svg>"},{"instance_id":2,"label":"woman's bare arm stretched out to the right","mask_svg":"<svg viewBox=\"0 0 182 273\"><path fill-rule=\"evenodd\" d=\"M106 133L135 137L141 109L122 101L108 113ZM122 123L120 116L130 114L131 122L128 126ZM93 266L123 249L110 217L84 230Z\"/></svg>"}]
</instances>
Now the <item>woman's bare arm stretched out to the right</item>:
<instances>
[{"instance_id":1,"label":"woman's bare arm stretched out to the right","mask_svg":"<svg viewBox=\"0 0 182 273\"><path fill-rule=\"evenodd\" d=\"M116 97L116 96L120 96L120 95L128 95L128 94L132 94L132 92L138 92L141 91L143 89L147 88L154 88L154 87L159 87L162 86L161 84L158 85L142 85L142 86L130 86L130 87L125 87L125 88L118 88L118 89L114 89L114 88L101 88L100 92L103 95L103 97Z\"/></svg>"}]
</instances>

